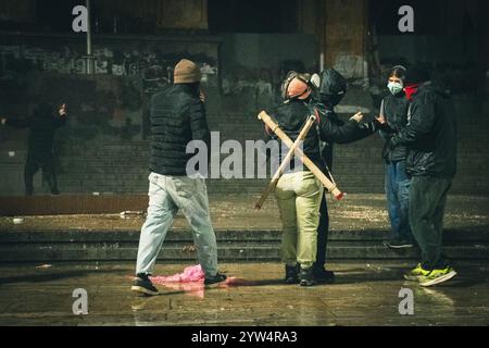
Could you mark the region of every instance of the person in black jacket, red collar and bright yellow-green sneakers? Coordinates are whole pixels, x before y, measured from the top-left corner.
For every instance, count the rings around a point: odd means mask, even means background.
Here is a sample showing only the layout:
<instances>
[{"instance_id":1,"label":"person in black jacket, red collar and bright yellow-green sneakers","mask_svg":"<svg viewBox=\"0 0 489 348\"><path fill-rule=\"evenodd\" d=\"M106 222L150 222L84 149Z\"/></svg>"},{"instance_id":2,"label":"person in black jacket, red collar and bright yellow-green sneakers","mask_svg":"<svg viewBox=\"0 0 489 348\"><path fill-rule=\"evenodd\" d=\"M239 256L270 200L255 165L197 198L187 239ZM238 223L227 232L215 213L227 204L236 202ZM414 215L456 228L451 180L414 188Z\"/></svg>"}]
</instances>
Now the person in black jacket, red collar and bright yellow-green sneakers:
<instances>
[{"instance_id":1,"label":"person in black jacket, red collar and bright yellow-green sneakers","mask_svg":"<svg viewBox=\"0 0 489 348\"><path fill-rule=\"evenodd\" d=\"M410 100L408 125L389 140L389 147L409 148L410 223L422 251L421 263L404 277L431 286L456 275L441 253L447 195L456 172L456 121L446 96L423 67L406 71L404 91Z\"/></svg>"}]
</instances>

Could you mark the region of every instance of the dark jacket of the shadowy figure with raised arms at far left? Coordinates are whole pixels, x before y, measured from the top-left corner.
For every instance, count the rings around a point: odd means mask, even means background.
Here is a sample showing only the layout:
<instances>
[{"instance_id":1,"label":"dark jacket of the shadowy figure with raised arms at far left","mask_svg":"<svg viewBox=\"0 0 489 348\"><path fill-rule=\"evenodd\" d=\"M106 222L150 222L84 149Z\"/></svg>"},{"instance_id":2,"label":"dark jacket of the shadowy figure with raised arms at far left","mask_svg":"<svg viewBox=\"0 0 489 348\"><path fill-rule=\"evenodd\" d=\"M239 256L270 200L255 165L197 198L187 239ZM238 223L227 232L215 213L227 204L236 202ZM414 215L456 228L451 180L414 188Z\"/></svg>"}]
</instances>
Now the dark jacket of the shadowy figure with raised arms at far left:
<instances>
[{"instance_id":1,"label":"dark jacket of the shadowy figure with raised arms at far left","mask_svg":"<svg viewBox=\"0 0 489 348\"><path fill-rule=\"evenodd\" d=\"M53 108L42 103L28 119L7 119L5 124L14 128L29 128L28 154L38 160L52 156L55 130L66 124L67 115L53 116Z\"/></svg>"}]
</instances>

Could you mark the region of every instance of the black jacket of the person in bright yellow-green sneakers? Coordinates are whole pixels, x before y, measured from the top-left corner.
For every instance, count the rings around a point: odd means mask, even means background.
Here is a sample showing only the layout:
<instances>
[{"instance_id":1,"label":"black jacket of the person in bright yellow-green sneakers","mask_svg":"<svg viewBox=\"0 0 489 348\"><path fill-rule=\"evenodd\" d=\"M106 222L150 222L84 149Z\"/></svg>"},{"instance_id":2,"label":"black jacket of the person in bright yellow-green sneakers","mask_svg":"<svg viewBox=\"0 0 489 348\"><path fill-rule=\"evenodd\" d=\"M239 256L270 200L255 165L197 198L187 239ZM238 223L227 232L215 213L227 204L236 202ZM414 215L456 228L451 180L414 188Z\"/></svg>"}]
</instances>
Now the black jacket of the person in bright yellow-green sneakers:
<instances>
[{"instance_id":1,"label":"black jacket of the person in bright yellow-green sneakers","mask_svg":"<svg viewBox=\"0 0 489 348\"><path fill-rule=\"evenodd\" d=\"M406 171L413 176L452 178L456 172L456 120L447 110L443 92L430 83L419 86L410 107L408 126L390 146L410 149Z\"/></svg>"}]
</instances>

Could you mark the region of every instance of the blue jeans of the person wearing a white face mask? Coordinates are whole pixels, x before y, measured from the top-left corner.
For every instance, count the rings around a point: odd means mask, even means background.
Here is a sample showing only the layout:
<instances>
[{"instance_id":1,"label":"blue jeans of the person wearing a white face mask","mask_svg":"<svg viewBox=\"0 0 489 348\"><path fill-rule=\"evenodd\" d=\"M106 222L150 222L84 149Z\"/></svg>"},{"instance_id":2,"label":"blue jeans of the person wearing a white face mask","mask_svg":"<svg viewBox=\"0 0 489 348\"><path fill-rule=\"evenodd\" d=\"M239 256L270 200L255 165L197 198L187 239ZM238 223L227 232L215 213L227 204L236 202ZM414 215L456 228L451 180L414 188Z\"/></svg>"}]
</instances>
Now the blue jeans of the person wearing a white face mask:
<instances>
[{"instance_id":1,"label":"blue jeans of the person wearing a white face mask","mask_svg":"<svg viewBox=\"0 0 489 348\"><path fill-rule=\"evenodd\" d=\"M405 172L405 161L386 164L387 210L391 226L390 238L413 241L409 221L410 183Z\"/></svg>"}]
</instances>

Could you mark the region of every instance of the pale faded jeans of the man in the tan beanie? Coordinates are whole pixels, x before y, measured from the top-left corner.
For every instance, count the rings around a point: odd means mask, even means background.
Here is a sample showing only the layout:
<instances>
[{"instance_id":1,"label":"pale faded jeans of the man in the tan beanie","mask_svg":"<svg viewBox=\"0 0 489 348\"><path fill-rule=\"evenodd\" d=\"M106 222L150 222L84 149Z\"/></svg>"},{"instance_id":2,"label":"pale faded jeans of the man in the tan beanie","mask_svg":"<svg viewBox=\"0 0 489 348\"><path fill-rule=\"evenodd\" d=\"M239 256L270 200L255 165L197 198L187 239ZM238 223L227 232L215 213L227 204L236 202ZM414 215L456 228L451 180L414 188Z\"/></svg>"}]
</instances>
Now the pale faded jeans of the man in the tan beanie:
<instances>
[{"instance_id":1,"label":"pale faded jeans of the man in the tan beanie","mask_svg":"<svg viewBox=\"0 0 489 348\"><path fill-rule=\"evenodd\" d=\"M152 274L173 220L181 210L193 232L197 257L205 276L217 273L217 246L209 214L205 181L151 173L148 216L139 238L136 274Z\"/></svg>"}]
</instances>

